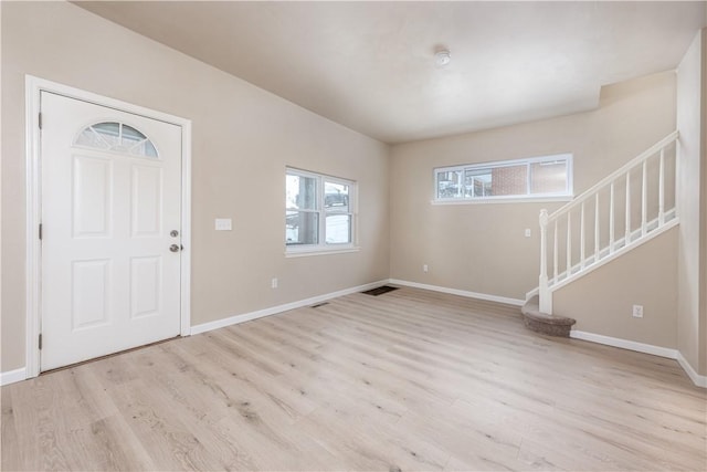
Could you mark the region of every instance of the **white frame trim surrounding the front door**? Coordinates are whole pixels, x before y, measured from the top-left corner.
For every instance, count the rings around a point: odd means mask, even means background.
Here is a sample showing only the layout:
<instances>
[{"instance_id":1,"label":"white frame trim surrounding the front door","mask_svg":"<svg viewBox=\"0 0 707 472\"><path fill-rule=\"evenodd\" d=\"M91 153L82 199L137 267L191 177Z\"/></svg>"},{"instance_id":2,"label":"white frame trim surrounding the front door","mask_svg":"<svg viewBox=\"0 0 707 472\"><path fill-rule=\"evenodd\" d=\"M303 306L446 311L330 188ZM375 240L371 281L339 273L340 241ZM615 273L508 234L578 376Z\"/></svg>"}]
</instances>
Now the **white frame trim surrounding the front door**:
<instances>
[{"instance_id":1,"label":"white frame trim surrounding the front door","mask_svg":"<svg viewBox=\"0 0 707 472\"><path fill-rule=\"evenodd\" d=\"M40 374L39 335L42 324L42 245L39 225L42 217L42 180L40 149L40 95L51 92L99 106L141 115L180 126L181 133L181 293L180 334L191 334L191 120L154 109L105 97L56 82L27 75L25 81L25 188L27 188L27 364L25 377Z\"/></svg>"}]
</instances>

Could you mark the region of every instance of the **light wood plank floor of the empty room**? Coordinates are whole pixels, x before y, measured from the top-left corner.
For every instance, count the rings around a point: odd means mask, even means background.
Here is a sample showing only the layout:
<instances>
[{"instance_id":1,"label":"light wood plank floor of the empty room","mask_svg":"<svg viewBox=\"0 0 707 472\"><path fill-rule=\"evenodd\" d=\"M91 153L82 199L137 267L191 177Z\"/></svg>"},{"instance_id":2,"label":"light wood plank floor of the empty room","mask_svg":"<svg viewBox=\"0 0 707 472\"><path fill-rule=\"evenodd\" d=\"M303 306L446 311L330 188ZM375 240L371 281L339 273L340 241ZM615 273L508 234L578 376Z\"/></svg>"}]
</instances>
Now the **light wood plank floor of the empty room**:
<instances>
[{"instance_id":1,"label":"light wood plank floor of the empty room","mask_svg":"<svg viewBox=\"0 0 707 472\"><path fill-rule=\"evenodd\" d=\"M2 470L707 470L674 360L401 289L2 388Z\"/></svg>"}]
</instances>

